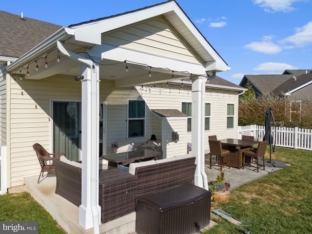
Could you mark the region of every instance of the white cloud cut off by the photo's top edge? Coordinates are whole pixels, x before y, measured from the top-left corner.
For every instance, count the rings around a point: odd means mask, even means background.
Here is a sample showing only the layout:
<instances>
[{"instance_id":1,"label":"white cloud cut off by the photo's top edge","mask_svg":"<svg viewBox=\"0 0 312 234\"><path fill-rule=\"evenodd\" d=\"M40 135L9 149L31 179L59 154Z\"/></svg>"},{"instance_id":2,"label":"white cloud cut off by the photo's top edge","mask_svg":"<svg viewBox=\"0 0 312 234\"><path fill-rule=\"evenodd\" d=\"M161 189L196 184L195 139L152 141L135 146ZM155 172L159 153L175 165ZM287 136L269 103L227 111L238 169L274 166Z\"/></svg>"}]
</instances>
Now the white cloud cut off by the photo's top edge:
<instances>
[{"instance_id":1,"label":"white cloud cut off by the photo's top edge","mask_svg":"<svg viewBox=\"0 0 312 234\"><path fill-rule=\"evenodd\" d=\"M294 10L292 3L305 0L253 0L254 4L260 5L265 12L291 12Z\"/></svg>"}]
</instances>

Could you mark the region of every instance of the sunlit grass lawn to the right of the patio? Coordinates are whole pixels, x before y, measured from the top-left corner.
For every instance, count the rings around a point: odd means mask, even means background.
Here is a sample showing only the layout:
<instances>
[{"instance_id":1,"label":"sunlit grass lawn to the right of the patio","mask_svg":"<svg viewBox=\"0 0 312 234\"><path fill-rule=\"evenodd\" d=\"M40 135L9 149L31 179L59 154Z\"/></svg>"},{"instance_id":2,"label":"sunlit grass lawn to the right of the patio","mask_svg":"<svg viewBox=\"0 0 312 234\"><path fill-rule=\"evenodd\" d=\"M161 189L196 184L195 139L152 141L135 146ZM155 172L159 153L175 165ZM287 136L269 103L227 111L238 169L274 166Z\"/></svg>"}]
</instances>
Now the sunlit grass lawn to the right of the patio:
<instances>
[{"instance_id":1,"label":"sunlit grass lawn to the right of the patio","mask_svg":"<svg viewBox=\"0 0 312 234\"><path fill-rule=\"evenodd\" d=\"M212 210L220 209L242 220L243 226L238 228L251 234L311 234L312 152L276 147L272 160L292 166L231 191L230 201L213 202ZM239 233L234 224L213 214L211 218L218 225L205 234Z\"/></svg>"}]
</instances>

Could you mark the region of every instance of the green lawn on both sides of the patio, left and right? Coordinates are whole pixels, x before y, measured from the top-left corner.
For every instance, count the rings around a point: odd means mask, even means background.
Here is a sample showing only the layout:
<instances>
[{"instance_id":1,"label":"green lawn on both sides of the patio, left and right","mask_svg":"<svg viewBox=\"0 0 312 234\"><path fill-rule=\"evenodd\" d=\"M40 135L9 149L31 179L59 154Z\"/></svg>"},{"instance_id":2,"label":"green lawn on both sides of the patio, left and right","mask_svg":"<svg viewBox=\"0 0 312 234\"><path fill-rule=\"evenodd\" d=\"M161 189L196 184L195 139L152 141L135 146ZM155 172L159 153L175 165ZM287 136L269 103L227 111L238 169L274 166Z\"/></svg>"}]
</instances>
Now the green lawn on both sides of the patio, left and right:
<instances>
[{"instance_id":1,"label":"green lawn on both sides of the patio, left and right","mask_svg":"<svg viewBox=\"0 0 312 234\"><path fill-rule=\"evenodd\" d=\"M212 210L231 213L252 234L311 234L312 152L276 147L272 159L292 166L234 189L229 203L213 202ZM205 234L238 234L234 224L215 215L212 220L218 225ZM0 196L0 221L38 221L39 234L65 233L27 193Z\"/></svg>"}]
</instances>

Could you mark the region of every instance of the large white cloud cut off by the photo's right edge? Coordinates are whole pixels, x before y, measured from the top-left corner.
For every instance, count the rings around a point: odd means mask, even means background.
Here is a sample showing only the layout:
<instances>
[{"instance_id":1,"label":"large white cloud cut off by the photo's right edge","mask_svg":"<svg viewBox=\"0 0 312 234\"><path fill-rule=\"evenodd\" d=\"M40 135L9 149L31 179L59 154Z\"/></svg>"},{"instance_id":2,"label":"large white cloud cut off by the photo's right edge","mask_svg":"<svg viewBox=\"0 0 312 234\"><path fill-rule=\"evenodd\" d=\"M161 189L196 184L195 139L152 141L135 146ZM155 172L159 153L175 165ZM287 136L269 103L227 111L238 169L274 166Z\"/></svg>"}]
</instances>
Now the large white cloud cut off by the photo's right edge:
<instances>
[{"instance_id":1,"label":"large white cloud cut off by the photo's right edge","mask_svg":"<svg viewBox=\"0 0 312 234\"><path fill-rule=\"evenodd\" d=\"M281 43L290 42L298 47L303 47L312 44L312 21L308 22L301 28L295 28L296 33L283 40Z\"/></svg>"}]
</instances>

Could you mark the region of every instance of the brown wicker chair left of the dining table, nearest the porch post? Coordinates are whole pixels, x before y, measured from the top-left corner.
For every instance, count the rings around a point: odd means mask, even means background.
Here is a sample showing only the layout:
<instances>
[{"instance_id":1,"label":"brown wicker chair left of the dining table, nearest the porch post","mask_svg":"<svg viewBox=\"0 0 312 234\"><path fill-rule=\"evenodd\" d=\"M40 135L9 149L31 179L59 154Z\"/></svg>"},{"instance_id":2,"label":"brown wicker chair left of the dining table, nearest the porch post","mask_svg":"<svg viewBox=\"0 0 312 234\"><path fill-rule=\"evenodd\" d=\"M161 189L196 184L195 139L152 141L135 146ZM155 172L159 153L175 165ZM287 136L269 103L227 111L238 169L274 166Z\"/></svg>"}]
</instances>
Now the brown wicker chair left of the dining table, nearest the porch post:
<instances>
[{"instance_id":1,"label":"brown wicker chair left of the dining table, nearest the porch post","mask_svg":"<svg viewBox=\"0 0 312 234\"><path fill-rule=\"evenodd\" d=\"M208 140L209 141L209 148L210 148L210 169L212 168L212 158L213 155L217 156L217 163L220 166L220 171L222 171L222 164L223 166L231 167L231 153L229 150L222 149L222 144L220 140ZM224 157L228 158L227 163L224 163Z\"/></svg>"}]
</instances>

